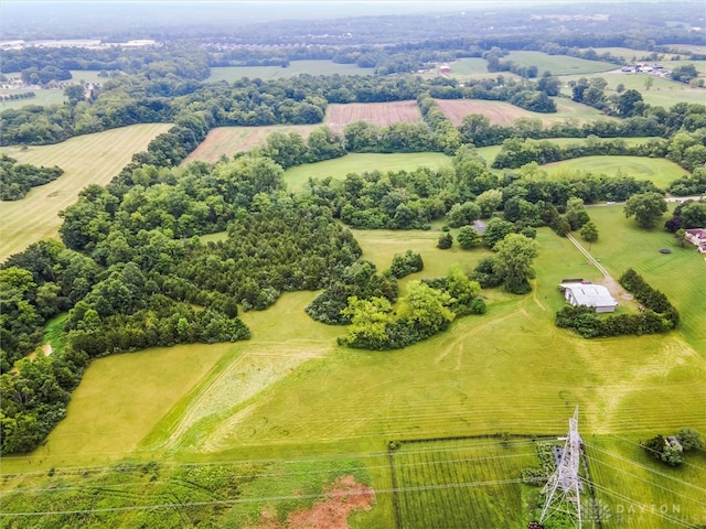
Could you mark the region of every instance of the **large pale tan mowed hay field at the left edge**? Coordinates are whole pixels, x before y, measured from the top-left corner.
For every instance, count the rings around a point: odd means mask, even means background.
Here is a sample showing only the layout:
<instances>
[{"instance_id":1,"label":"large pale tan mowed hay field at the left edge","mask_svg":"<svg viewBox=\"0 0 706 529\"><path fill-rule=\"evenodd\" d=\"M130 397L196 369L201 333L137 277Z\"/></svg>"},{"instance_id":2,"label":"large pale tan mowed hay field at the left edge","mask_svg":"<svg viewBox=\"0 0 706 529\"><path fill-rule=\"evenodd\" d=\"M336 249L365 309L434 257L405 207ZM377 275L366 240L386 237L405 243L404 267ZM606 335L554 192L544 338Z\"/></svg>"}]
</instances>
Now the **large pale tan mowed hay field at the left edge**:
<instances>
[{"instance_id":1,"label":"large pale tan mowed hay field at the left edge","mask_svg":"<svg viewBox=\"0 0 706 529\"><path fill-rule=\"evenodd\" d=\"M72 138L54 145L3 147L0 152L20 163L58 165L64 174L54 182L33 187L21 201L0 202L0 260L22 251L32 242L58 235L58 212L78 197L88 184L105 185L127 165L132 154L147 149L168 123L133 125Z\"/></svg>"}]
</instances>

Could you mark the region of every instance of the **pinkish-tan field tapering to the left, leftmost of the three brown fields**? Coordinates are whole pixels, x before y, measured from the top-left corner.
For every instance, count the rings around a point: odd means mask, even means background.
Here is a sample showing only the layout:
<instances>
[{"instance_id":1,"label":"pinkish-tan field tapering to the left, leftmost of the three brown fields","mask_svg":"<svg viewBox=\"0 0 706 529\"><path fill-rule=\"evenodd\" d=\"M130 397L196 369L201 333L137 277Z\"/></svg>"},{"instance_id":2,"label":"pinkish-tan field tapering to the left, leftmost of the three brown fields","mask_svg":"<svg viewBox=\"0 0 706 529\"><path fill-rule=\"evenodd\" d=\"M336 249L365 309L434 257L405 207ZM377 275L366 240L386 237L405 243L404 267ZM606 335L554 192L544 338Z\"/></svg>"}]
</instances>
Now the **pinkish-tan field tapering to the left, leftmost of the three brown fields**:
<instances>
[{"instance_id":1,"label":"pinkish-tan field tapering to the left, leftmost of the three brown fields","mask_svg":"<svg viewBox=\"0 0 706 529\"><path fill-rule=\"evenodd\" d=\"M296 132L308 138L320 125L271 125L266 127L217 127L211 129L206 138L186 156L182 165L201 160L215 163L223 155L233 156L257 145L264 145L265 139L272 132Z\"/></svg>"}]
</instances>

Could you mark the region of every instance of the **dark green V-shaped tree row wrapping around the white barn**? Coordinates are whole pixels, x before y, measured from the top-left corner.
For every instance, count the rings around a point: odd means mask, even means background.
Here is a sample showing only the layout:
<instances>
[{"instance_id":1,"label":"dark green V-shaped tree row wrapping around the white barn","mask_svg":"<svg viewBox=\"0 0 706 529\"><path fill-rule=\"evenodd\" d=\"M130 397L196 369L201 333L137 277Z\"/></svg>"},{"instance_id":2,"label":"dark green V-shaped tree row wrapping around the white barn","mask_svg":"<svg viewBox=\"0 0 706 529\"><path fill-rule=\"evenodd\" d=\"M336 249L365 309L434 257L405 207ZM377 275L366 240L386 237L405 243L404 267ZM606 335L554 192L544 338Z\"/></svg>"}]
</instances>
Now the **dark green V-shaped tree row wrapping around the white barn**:
<instances>
[{"instance_id":1,"label":"dark green V-shaped tree row wrapping around the white barn","mask_svg":"<svg viewBox=\"0 0 706 529\"><path fill-rule=\"evenodd\" d=\"M591 306L565 306L556 313L556 325L570 328L585 338L659 334L676 327L680 321L677 310L634 270L628 269L620 277L620 284L644 305L641 312L599 317Z\"/></svg>"}]
</instances>

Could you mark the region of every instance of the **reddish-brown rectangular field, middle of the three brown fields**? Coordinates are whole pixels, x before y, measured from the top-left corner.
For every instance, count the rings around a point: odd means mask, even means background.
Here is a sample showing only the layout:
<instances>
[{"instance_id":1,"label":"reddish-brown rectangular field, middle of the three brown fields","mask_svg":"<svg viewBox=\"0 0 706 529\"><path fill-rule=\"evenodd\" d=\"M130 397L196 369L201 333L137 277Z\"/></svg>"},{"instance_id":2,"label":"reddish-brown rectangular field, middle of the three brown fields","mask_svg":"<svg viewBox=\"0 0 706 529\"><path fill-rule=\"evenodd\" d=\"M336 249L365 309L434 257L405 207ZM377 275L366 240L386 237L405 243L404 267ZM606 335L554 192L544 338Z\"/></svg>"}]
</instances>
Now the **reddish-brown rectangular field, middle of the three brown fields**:
<instances>
[{"instance_id":1,"label":"reddish-brown rectangular field, middle of the three brown fields","mask_svg":"<svg viewBox=\"0 0 706 529\"><path fill-rule=\"evenodd\" d=\"M329 105L325 125L340 132L346 125L356 121L385 126L392 123L418 123L421 112L417 101L349 102Z\"/></svg>"}]
</instances>

